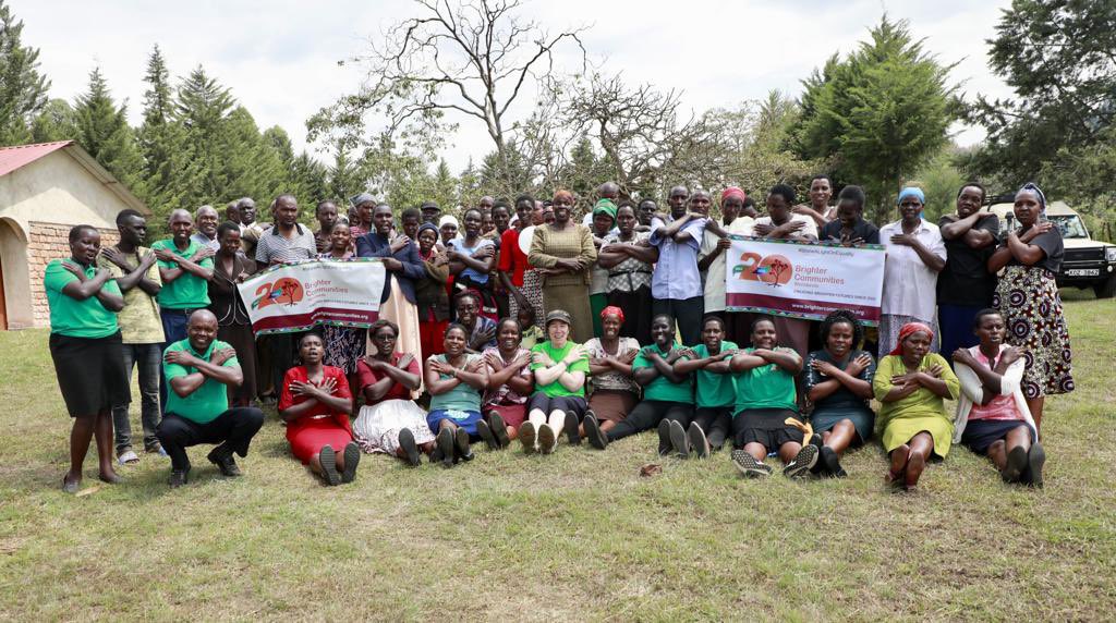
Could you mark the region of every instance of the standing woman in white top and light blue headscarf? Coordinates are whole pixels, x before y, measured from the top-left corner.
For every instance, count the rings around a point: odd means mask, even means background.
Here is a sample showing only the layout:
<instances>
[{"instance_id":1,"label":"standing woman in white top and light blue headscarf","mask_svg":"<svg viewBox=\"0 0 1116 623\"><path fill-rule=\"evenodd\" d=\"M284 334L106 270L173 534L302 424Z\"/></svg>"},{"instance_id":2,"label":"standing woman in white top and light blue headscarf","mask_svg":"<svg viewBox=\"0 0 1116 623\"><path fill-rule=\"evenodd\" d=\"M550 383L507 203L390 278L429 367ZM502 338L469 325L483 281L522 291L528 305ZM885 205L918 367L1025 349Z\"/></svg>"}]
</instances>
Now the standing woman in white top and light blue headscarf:
<instances>
[{"instance_id":1,"label":"standing woman in white top and light blue headscarf","mask_svg":"<svg viewBox=\"0 0 1116 623\"><path fill-rule=\"evenodd\" d=\"M921 188L903 188L896 202L901 218L879 228L879 240L887 250L879 310L881 353L895 348L903 325L911 322L934 324L934 293L937 273L945 266L945 245L937 226L922 217L925 202ZM936 340L931 343L931 350L937 350Z\"/></svg>"}]
</instances>

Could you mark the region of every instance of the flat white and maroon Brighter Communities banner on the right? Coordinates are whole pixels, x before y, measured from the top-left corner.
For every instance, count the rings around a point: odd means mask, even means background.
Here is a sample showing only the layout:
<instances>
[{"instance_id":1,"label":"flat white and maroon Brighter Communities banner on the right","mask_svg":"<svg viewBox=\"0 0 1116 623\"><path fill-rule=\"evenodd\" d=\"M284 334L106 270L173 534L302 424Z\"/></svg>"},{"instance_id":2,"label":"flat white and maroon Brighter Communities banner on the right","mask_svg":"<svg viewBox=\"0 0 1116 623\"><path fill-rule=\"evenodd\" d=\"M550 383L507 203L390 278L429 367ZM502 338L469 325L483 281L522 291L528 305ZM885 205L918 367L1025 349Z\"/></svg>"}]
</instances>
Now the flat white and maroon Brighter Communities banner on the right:
<instances>
[{"instance_id":1,"label":"flat white and maroon Brighter Communities banner on the right","mask_svg":"<svg viewBox=\"0 0 1116 623\"><path fill-rule=\"evenodd\" d=\"M865 324L879 323L884 247L731 236L725 306L821 320L848 310Z\"/></svg>"}]
</instances>

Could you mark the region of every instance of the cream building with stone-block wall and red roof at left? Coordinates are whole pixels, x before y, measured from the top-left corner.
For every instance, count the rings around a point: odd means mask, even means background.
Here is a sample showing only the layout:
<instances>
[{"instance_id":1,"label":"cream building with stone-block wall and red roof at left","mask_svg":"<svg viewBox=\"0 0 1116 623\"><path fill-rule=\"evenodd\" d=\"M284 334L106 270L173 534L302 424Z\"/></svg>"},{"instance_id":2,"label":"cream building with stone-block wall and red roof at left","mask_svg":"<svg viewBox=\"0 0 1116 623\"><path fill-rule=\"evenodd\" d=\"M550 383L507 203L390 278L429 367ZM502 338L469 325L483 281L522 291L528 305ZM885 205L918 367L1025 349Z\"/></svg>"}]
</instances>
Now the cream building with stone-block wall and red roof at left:
<instances>
[{"instance_id":1,"label":"cream building with stone-block wall and red roof at left","mask_svg":"<svg viewBox=\"0 0 1116 623\"><path fill-rule=\"evenodd\" d=\"M73 140L0 147L0 330L48 327L42 273L69 256L69 230L115 244L116 214L151 211Z\"/></svg>"}]
</instances>

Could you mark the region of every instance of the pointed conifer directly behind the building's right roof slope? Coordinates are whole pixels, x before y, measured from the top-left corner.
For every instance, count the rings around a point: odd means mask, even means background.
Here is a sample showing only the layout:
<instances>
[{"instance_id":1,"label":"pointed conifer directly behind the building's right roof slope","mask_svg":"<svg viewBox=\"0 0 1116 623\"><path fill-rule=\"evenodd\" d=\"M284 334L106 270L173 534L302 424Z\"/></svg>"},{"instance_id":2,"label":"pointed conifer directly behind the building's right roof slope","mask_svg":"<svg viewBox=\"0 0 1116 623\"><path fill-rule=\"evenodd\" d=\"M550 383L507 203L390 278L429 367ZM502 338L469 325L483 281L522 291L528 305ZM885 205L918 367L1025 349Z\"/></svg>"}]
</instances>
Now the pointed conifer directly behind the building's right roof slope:
<instances>
[{"instance_id":1,"label":"pointed conifer directly behind the building's right roof slope","mask_svg":"<svg viewBox=\"0 0 1116 623\"><path fill-rule=\"evenodd\" d=\"M128 126L127 107L113 101L100 68L89 72L89 90L74 105L78 144L129 189L141 193L143 160Z\"/></svg>"}]
</instances>

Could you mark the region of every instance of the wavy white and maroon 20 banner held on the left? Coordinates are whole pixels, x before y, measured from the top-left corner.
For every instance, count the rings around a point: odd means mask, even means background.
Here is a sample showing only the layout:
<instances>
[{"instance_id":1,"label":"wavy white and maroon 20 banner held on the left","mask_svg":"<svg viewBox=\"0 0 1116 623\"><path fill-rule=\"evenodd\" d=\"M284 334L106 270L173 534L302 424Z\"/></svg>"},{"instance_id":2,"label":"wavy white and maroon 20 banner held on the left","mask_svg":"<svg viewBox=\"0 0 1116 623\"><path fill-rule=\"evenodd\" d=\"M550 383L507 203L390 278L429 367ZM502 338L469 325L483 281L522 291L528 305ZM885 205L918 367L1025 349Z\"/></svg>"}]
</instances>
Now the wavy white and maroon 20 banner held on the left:
<instances>
[{"instance_id":1,"label":"wavy white and maroon 20 banner held on the left","mask_svg":"<svg viewBox=\"0 0 1116 623\"><path fill-rule=\"evenodd\" d=\"M257 335L316 324L367 329L379 317L384 278L375 257L308 260L271 266L238 288Z\"/></svg>"}]
</instances>

